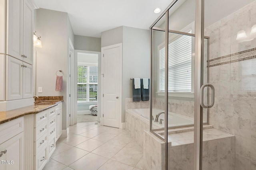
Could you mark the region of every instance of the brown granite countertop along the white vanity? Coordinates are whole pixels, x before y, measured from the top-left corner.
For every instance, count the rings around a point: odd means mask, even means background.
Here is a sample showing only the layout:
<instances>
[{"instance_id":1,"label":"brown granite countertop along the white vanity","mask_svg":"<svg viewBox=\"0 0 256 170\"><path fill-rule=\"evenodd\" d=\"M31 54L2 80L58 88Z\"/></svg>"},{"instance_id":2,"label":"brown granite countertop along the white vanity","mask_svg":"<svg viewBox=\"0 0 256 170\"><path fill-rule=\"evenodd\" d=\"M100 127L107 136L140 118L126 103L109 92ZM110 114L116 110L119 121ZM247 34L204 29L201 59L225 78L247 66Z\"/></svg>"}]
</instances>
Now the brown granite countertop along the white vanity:
<instances>
[{"instance_id":1,"label":"brown granite countertop along the white vanity","mask_svg":"<svg viewBox=\"0 0 256 170\"><path fill-rule=\"evenodd\" d=\"M13 109L10 111L0 111L0 124L17 119L24 115L30 115L30 114L36 114L36 113L42 112L51 107L57 106L58 103L61 103L61 102L63 102L63 100L40 100L40 101L36 101L35 106L31 105L31 106L21 107L18 109Z\"/></svg>"}]
</instances>

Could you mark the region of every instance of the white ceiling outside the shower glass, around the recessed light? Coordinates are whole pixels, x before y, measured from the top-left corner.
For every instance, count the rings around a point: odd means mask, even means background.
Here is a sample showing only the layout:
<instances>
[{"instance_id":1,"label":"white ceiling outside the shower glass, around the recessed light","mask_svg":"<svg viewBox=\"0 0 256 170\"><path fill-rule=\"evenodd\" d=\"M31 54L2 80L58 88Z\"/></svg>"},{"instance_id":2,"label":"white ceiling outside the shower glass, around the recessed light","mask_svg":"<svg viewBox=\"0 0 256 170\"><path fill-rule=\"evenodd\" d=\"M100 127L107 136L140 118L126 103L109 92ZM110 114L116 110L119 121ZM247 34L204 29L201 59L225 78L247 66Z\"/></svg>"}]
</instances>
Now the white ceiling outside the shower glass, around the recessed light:
<instances>
[{"instance_id":1,"label":"white ceiling outside the shower glass, around the recessed light","mask_svg":"<svg viewBox=\"0 0 256 170\"><path fill-rule=\"evenodd\" d=\"M119 26L149 29L172 0L35 0L39 8L67 12L75 35L101 37ZM161 12L155 14L155 8Z\"/></svg>"}]
</instances>

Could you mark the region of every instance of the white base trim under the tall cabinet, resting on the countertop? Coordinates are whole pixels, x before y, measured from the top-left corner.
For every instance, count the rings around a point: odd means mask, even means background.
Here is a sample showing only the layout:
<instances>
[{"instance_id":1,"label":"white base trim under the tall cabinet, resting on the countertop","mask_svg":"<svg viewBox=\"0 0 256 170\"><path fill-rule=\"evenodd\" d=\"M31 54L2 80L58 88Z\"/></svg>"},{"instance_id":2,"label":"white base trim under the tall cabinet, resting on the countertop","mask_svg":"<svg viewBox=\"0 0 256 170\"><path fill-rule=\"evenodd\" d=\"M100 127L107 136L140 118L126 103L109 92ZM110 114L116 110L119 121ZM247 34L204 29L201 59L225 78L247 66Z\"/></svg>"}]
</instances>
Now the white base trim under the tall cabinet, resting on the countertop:
<instances>
[{"instance_id":1,"label":"white base trim under the tall cabinet, resting on the countertop","mask_svg":"<svg viewBox=\"0 0 256 170\"><path fill-rule=\"evenodd\" d=\"M9 111L9 110L18 109L21 107L31 106L33 105L33 103L34 103L33 98L1 101L0 111Z\"/></svg>"}]
</instances>

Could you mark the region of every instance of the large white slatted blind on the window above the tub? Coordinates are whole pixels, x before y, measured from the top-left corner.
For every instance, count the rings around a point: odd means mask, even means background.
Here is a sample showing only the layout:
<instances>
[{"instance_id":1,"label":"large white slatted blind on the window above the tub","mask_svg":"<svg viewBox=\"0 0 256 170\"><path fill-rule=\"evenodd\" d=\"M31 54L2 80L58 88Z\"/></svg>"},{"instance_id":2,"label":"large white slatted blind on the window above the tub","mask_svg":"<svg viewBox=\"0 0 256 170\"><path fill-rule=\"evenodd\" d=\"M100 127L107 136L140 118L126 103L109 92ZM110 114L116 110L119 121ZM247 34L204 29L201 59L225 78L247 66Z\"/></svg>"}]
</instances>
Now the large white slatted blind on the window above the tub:
<instances>
[{"instance_id":1,"label":"large white slatted blind on the window above the tub","mask_svg":"<svg viewBox=\"0 0 256 170\"><path fill-rule=\"evenodd\" d=\"M190 30L189 33L192 31ZM164 91L165 47L159 50L159 91ZM179 35L168 45L168 92L191 92L192 37Z\"/></svg>"}]
</instances>

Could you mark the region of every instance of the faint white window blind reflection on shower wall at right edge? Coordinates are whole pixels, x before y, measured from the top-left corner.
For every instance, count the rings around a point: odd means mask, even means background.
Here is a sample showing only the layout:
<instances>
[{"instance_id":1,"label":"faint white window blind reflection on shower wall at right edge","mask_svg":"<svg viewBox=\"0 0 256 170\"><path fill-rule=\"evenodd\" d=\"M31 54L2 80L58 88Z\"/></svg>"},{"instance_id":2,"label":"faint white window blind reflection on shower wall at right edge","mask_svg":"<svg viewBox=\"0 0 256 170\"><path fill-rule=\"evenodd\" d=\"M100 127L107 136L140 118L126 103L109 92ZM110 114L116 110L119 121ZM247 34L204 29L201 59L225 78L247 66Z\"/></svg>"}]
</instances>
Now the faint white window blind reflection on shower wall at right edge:
<instances>
[{"instance_id":1,"label":"faint white window blind reflection on shower wall at right edge","mask_svg":"<svg viewBox=\"0 0 256 170\"><path fill-rule=\"evenodd\" d=\"M242 90L256 90L256 59L242 61Z\"/></svg>"}]
</instances>

